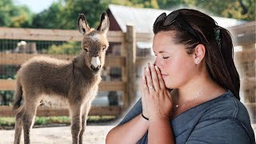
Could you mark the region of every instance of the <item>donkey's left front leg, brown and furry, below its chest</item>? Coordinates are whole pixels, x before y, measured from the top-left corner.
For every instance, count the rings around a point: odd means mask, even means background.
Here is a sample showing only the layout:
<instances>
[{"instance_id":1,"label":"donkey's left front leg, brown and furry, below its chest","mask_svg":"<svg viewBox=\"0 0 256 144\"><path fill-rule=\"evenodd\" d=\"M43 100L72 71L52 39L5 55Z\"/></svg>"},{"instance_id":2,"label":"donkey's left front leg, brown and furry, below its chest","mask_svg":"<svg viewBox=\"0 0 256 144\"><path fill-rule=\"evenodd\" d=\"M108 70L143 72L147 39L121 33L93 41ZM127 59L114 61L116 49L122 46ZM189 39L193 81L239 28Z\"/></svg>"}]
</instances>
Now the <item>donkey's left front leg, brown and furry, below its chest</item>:
<instances>
[{"instance_id":1,"label":"donkey's left front leg, brown and furry, below its chest","mask_svg":"<svg viewBox=\"0 0 256 144\"><path fill-rule=\"evenodd\" d=\"M82 130L82 113L81 113L81 105L75 103L70 106L70 114L71 114L71 134L73 144L78 144L79 142L79 134Z\"/></svg>"}]
</instances>

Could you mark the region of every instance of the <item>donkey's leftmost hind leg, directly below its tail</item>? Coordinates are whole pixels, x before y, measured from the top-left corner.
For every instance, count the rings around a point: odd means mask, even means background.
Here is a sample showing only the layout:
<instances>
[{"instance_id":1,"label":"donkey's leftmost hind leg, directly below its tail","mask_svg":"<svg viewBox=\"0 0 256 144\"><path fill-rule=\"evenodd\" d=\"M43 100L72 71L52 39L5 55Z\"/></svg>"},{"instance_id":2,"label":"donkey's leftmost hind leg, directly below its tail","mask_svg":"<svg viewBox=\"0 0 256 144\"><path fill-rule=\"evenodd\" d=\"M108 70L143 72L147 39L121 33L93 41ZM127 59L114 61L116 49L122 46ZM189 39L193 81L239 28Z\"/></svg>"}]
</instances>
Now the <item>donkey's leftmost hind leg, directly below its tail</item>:
<instances>
[{"instance_id":1,"label":"donkey's leftmost hind leg, directly below its tail","mask_svg":"<svg viewBox=\"0 0 256 144\"><path fill-rule=\"evenodd\" d=\"M19 144L21 142L23 113L24 107L22 107L22 110L20 110L18 114L16 114L14 144Z\"/></svg>"}]
</instances>

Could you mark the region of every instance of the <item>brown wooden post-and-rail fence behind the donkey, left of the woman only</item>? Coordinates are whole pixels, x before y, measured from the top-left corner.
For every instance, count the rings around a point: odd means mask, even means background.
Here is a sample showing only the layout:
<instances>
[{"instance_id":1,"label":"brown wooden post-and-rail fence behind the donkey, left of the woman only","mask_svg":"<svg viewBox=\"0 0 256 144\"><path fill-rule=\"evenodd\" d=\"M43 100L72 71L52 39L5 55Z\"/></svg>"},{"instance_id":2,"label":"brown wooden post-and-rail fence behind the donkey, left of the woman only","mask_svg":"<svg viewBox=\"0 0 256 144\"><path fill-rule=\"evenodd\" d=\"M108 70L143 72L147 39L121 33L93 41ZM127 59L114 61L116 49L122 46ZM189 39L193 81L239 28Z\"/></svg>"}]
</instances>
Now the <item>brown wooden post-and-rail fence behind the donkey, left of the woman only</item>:
<instances>
[{"instance_id":1,"label":"brown wooden post-and-rail fence behind the donkey, left of the woman only","mask_svg":"<svg viewBox=\"0 0 256 144\"><path fill-rule=\"evenodd\" d=\"M102 81L99 90L123 92L122 102L123 106L93 106L90 110L90 115L119 115L123 110L134 102L135 98L135 64L141 66L143 62L148 62L152 58L137 58L135 40L150 41L152 34L135 34L134 26L127 26L127 32L109 31L107 34L109 42L121 43L121 56L107 56L106 66L114 66L122 68L122 81L118 82L104 82ZM22 28L6 28L0 27L0 39L11 40L36 40L36 41L77 41L82 40L81 34L78 30L45 30L45 29L22 29ZM6 54L0 53L0 65L21 65L29 58L38 54ZM74 55L65 54L40 54L50 56L52 58L62 58L70 60ZM129 59L127 61L126 59ZM136 61L136 62L135 62ZM15 80L0 79L0 90L14 90ZM10 106L0 106L1 116L14 116L16 111L11 110ZM57 109L39 106L38 115L68 115L66 109Z\"/></svg>"}]
</instances>

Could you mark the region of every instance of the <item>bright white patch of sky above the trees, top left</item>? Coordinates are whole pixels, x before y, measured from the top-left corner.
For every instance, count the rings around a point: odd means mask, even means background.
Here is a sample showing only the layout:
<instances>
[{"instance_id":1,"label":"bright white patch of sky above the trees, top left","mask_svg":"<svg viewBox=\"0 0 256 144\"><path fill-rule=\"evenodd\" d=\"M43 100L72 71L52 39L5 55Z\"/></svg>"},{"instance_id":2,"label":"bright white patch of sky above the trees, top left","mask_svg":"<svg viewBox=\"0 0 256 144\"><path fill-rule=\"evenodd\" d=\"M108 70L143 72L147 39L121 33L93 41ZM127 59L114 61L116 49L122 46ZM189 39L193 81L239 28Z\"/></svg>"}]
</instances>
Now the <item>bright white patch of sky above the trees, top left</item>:
<instances>
[{"instance_id":1,"label":"bright white patch of sky above the trees, top left","mask_svg":"<svg viewBox=\"0 0 256 144\"><path fill-rule=\"evenodd\" d=\"M47 9L53 2L57 0L14 0L16 5L26 5L34 13Z\"/></svg>"}]
</instances>

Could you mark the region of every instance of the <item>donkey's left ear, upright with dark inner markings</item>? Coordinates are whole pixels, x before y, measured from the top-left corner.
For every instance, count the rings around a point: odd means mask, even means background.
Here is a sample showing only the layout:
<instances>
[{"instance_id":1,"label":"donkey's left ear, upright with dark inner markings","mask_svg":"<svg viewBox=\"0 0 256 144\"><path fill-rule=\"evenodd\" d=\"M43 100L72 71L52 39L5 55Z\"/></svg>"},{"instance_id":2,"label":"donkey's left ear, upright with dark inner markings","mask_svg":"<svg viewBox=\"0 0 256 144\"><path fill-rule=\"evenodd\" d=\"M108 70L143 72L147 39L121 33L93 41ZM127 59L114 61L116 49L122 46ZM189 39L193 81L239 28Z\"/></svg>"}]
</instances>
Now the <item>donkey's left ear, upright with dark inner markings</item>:
<instances>
[{"instance_id":1,"label":"donkey's left ear, upright with dark inner markings","mask_svg":"<svg viewBox=\"0 0 256 144\"><path fill-rule=\"evenodd\" d=\"M88 26L85 14L79 14L77 25L81 34L87 34L90 32L90 26Z\"/></svg>"}]
</instances>

